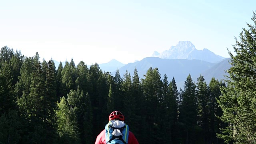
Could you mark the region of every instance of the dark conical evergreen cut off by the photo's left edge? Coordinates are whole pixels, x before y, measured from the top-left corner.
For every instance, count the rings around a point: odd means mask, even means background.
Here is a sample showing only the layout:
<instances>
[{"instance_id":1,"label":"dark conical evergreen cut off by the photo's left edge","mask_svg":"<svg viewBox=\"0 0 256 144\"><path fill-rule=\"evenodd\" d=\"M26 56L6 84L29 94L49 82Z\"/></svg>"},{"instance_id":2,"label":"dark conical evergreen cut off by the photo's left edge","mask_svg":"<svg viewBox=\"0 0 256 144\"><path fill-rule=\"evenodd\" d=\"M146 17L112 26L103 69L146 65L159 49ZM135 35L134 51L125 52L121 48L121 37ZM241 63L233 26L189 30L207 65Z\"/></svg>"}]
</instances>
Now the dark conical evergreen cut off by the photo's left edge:
<instances>
[{"instance_id":1,"label":"dark conical evergreen cut off by the photo's left edge","mask_svg":"<svg viewBox=\"0 0 256 144\"><path fill-rule=\"evenodd\" d=\"M0 143L17 143L20 122L14 95L13 75L7 61L0 62Z\"/></svg>"}]
</instances>

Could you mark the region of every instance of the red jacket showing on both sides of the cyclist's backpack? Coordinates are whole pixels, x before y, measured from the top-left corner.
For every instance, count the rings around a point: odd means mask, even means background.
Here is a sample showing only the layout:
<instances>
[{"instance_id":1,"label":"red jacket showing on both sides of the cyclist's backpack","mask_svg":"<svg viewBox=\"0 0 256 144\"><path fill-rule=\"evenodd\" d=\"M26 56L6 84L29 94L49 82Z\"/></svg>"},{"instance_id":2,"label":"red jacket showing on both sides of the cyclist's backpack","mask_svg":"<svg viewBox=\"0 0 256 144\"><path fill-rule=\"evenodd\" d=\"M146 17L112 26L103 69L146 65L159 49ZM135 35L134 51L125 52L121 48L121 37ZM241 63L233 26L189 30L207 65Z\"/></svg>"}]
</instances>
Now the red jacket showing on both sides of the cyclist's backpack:
<instances>
[{"instance_id":1,"label":"red jacket showing on both sides of the cyclist's backpack","mask_svg":"<svg viewBox=\"0 0 256 144\"><path fill-rule=\"evenodd\" d=\"M96 138L95 144L106 144L105 140L105 130L102 130ZM139 144L138 140L135 138L134 134L129 130L128 144Z\"/></svg>"}]
</instances>

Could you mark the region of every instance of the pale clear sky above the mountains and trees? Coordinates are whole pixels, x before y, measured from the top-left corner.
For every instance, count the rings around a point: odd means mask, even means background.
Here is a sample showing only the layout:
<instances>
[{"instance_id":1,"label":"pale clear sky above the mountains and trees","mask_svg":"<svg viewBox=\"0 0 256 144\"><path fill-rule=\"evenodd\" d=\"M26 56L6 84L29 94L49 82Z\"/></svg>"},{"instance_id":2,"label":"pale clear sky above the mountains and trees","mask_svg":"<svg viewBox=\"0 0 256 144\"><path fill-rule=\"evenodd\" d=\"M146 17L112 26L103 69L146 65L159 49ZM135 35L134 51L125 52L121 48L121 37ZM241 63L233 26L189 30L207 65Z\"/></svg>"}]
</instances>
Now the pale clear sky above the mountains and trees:
<instances>
[{"instance_id":1,"label":"pale clear sky above the mountains and trees","mask_svg":"<svg viewBox=\"0 0 256 144\"><path fill-rule=\"evenodd\" d=\"M0 47L46 61L123 64L188 40L229 57L255 0L3 0Z\"/></svg>"}]
</instances>

